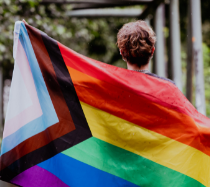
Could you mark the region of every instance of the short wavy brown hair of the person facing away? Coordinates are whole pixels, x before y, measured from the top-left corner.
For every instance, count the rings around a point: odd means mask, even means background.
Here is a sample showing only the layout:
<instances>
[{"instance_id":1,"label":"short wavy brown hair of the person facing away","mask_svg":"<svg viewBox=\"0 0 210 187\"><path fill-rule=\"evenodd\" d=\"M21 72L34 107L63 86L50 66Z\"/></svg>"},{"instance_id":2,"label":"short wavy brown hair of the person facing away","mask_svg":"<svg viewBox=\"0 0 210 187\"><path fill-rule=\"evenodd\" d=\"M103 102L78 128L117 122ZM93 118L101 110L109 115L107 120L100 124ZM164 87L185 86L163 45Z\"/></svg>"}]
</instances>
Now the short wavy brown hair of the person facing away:
<instances>
[{"instance_id":1,"label":"short wavy brown hair of the person facing away","mask_svg":"<svg viewBox=\"0 0 210 187\"><path fill-rule=\"evenodd\" d=\"M155 42L154 31L141 20L123 25L117 34L117 45L123 51L123 58L139 67L149 62Z\"/></svg>"}]
</instances>

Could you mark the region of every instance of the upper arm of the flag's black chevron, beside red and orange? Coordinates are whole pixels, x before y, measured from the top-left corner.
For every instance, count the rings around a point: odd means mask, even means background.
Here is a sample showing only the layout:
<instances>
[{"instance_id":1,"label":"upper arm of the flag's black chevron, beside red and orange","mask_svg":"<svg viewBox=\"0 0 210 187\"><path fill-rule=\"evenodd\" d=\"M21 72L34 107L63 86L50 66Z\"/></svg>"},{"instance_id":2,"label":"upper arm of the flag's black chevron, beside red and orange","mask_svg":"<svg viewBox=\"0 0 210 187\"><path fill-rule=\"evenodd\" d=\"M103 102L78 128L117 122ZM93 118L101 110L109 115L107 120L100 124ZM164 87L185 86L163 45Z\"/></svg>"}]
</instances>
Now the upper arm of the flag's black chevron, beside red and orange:
<instances>
[{"instance_id":1,"label":"upper arm of the flag's black chevron, beside red and orange","mask_svg":"<svg viewBox=\"0 0 210 187\"><path fill-rule=\"evenodd\" d=\"M51 62L53 64L57 76L58 83L63 92L63 96L66 100L67 106L69 108L69 111L71 113L76 128L77 126L82 126L86 128L88 131L90 131L84 112L80 105L78 96L76 94L72 79L69 75L69 71L63 60L57 42L52 38L50 38L49 36L43 34L42 34L42 39L50 56Z\"/></svg>"}]
</instances>

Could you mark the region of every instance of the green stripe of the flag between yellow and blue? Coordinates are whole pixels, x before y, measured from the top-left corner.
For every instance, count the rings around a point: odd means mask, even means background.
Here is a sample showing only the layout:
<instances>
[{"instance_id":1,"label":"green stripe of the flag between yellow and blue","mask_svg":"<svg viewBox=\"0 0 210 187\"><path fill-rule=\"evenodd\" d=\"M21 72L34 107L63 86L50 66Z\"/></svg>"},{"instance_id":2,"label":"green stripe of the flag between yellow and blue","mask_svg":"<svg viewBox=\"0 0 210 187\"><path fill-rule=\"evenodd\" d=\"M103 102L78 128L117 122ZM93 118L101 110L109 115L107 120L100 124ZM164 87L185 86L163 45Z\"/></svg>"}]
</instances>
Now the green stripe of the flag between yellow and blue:
<instances>
[{"instance_id":1,"label":"green stripe of the flag between yellow and blue","mask_svg":"<svg viewBox=\"0 0 210 187\"><path fill-rule=\"evenodd\" d=\"M62 152L139 186L200 187L198 181L95 137Z\"/></svg>"}]
</instances>

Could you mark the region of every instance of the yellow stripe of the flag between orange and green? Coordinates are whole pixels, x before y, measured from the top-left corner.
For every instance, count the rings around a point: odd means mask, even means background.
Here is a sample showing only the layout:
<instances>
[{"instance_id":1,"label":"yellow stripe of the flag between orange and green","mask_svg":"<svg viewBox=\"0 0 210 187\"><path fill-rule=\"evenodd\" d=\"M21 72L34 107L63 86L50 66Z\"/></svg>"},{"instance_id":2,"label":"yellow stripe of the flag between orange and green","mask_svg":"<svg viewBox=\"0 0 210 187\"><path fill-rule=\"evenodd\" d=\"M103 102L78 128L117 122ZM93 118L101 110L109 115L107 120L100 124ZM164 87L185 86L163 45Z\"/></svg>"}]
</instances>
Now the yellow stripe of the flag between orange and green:
<instances>
[{"instance_id":1,"label":"yellow stripe of the flag between orange and green","mask_svg":"<svg viewBox=\"0 0 210 187\"><path fill-rule=\"evenodd\" d=\"M210 186L210 157L166 136L81 102L94 137Z\"/></svg>"}]
</instances>

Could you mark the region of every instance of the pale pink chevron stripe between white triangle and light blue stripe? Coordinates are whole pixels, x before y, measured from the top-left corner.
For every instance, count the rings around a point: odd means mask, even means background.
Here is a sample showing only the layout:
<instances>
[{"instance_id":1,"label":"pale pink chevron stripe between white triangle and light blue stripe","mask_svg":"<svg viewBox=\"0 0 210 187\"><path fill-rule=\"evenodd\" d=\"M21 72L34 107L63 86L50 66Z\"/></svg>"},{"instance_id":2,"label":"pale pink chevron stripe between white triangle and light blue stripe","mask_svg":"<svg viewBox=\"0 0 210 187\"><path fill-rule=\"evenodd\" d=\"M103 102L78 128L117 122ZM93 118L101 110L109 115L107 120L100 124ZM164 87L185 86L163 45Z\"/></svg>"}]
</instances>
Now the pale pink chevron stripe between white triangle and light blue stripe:
<instances>
[{"instance_id":1,"label":"pale pink chevron stripe between white triangle and light blue stripe","mask_svg":"<svg viewBox=\"0 0 210 187\"><path fill-rule=\"evenodd\" d=\"M30 121L40 117L43 114L37 96L29 62L20 40L18 40L17 54L18 55L16 56L15 63L17 63L20 69L21 75L23 77L30 98L33 102L33 105L26 108L24 111L20 112L14 118L9 119L8 121L5 122L3 138L11 135L12 133L16 132L18 129L20 129Z\"/></svg>"}]
</instances>

